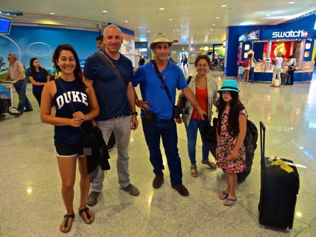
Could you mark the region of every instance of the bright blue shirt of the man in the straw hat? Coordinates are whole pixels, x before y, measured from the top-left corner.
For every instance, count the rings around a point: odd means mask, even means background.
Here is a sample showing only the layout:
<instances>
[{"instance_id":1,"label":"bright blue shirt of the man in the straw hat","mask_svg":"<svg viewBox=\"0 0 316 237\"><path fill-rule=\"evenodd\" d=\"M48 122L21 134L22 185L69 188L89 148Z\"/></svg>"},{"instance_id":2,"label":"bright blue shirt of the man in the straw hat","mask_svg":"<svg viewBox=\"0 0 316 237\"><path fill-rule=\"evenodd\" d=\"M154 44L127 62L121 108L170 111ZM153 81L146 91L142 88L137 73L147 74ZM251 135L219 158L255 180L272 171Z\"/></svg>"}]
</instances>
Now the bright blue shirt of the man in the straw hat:
<instances>
[{"instance_id":1,"label":"bright blue shirt of the man in the straw hat","mask_svg":"<svg viewBox=\"0 0 316 237\"><path fill-rule=\"evenodd\" d=\"M134 73L133 86L140 85L143 100L148 101L150 109L158 118L172 118L172 109L176 100L176 88L182 90L188 86L188 83L181 69L168 60L167 67L161 72L165 79L165 84L170 92L172 104L166 91L161 87L161 81L158 78L155 68L151 61L139 67ZM143 116L142 111L141 116Z\"/></svg>"}]
</instances>

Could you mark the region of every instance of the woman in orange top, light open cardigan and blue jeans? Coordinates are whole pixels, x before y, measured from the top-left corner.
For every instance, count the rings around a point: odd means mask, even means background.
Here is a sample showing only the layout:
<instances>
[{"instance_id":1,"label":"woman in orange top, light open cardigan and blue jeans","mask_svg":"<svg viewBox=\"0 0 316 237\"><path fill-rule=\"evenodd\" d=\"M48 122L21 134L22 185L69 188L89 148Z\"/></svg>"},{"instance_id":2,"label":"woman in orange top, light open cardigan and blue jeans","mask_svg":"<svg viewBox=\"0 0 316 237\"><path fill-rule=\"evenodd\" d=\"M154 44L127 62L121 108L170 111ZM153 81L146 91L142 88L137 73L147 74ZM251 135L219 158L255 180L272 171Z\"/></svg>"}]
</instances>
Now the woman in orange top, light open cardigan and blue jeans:
<instances>
[{"instance_id":1,"label":"woman in orange top, light open cardigan and blue jeans","mask_svg":"<svg viewBox=\"0 0 316 237\"><path fill-rule=\"evenodd\" d=\"M211 65L210 59L206 55L199 55L195 61L197 68L197 75L193 76L189 88L195 94L199 105L203 111L207 111L207 118L211 121L212 106L214 102L218 100L217 83L212 79L208 70ZM183 94L180 92L177 104L180 105L183 98ZM188 153L191 161L191 175L197 177L197 161L196 161L196 145L197 145L197 129L201 133L202 127L205 121L200 120L197 116L197 110L191 105L189 101L186 102L186 108L189 108L189 114L183 115L182 119L186 127L188 138ZM177 123L182 123L182 119L176 119ZM215 163L208 159L209 150L204 144L202 138L202 164L208 165L210 168L215 167Z\"/></svg>"}]
</instances>

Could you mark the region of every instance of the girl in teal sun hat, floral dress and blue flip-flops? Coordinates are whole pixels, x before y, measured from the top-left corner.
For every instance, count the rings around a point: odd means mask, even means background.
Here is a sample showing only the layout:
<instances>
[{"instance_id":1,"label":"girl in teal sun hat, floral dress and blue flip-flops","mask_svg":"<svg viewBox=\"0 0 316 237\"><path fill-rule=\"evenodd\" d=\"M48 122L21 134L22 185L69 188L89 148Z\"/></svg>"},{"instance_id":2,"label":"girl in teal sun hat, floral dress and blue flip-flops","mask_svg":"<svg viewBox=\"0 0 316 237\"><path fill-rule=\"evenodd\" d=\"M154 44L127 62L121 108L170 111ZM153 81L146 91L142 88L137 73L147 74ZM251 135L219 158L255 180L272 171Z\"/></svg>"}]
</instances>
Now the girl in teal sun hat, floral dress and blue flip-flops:
<instances>
[{"instance_id":1,"label":"girl in teal sun hat, floral dress and blue flip-flops","mask_svg":"<svg viewBox=\"0 0 316 237\"><path fill-rule=\"evenodd\" d=\"M237 200L237 174L246 168L246 151L243 140L246 135L247 112L240 102L237 81L225 80L217 101L218 123L216 129L216 167L225 169L227 189L219 194L225 206Z\"/></svg>"}]
</instances>

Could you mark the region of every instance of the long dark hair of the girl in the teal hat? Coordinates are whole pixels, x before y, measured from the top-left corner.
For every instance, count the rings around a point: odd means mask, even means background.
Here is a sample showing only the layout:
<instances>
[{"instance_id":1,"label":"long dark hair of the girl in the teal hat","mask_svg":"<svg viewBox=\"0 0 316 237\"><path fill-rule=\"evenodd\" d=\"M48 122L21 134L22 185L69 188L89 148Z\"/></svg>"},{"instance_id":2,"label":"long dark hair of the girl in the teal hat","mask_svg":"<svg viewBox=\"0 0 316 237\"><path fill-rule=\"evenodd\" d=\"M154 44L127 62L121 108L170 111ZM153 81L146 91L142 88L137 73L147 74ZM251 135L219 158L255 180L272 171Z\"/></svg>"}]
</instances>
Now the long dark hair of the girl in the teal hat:
<instances>
[{"instance_id":1,"label":"long dark hair of the girl in the teal hat","mask_svg":"<svg viewBox=\"0 0 316 237\"><path fill-rule=\"evenodd\" d=\"M228 116L228 131L232 136L237 136L239 133L239 112L244 109L243 104L241 104L239 100L238 92L236 91L229 91L232 97L232 100L229 102L230 111ZM217 111L218 111L218 134L221 134L221 124L222 124L222 115L224 113L226 102L222 97L222 92L219 92L220 97L217 101Z\"/></svg>"}]
</instances>

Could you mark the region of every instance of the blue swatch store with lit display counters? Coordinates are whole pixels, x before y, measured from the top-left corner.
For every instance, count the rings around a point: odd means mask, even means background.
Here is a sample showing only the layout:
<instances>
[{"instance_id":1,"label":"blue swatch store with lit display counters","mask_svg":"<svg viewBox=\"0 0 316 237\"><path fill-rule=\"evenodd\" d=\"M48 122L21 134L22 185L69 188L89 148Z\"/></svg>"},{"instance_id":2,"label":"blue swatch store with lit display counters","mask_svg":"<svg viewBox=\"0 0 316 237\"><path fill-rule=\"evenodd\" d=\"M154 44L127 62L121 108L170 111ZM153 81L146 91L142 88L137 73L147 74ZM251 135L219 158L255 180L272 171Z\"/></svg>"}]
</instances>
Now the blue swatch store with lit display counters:
<instances>
[{"instance_id":1,"label":"blue swatch store with lit display counters","mask_svg":"<svg viewBox=\"0 0 316 237\"><path fill-rule=\"evenodd\" d=\"M236 37L238 39L236 72L237 65L244 61L249 53L252 53L257 61L254 68L254 80L270 82L274 67L272 61L280 52L284 59L281 73L287 71L289 56L293 55L296 59L294 83L312 80L316 49L315 22L316 15L313 14L275 26L257 26L257 29L256 26L252 26L251 30Z\"/></svg>"}]
</instances>

